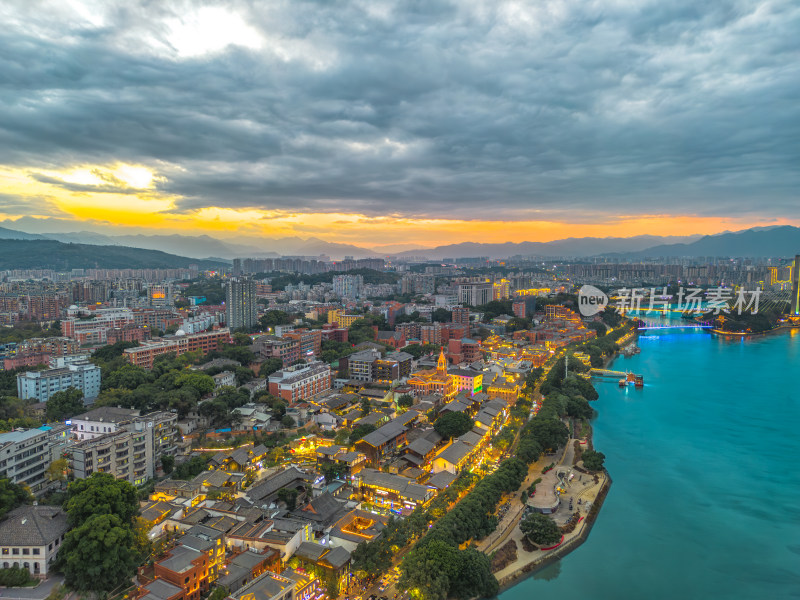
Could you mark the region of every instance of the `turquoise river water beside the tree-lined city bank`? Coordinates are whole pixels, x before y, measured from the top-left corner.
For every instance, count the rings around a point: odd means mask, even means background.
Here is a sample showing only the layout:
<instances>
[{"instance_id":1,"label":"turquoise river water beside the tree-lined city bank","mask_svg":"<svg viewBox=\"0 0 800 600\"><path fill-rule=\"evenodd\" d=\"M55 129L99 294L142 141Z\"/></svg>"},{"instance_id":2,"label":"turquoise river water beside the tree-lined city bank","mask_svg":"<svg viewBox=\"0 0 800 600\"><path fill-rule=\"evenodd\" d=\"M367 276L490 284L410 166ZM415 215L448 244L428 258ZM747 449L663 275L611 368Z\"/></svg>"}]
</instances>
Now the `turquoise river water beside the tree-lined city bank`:
<instances>
[{"instance_id":1,"label":"turquoise river water beside the tree-lined city bank","mask_svg":"<svg viewBox=\"0 0 800 600\"><path fill-rule=\"evenodd\" d=\"M587 542L502 600L800 598L800 331L640 339L598 383L613 485Z\"/></svg>"}]
</instances>

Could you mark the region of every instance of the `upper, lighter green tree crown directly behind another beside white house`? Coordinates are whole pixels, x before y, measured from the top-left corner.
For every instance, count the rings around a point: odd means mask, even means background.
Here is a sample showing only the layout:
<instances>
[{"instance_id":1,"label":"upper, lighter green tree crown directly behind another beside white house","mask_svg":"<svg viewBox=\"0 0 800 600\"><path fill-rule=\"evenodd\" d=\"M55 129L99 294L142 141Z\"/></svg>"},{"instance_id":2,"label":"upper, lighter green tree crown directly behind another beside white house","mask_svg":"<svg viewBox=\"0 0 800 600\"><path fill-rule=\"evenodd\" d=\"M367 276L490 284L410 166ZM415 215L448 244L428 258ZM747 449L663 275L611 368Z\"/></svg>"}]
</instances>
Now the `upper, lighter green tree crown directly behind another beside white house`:
<instances>
[{"instance_id":1,"label":"upper, lighter green tree crown directly behind another beside white house","mask_svg":"<svg viewBox=\"0 0 800 600\"><path fill-rule=\"evenodd\" d=\"M115 515L123 525L131 526L139 513L139 498L136 488L127 481L109 473L93 473L69 484L64 508L71 527L104 514Z\"/></svg>"}]
</instances>

